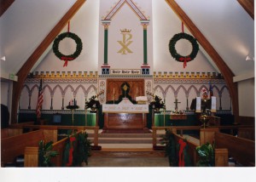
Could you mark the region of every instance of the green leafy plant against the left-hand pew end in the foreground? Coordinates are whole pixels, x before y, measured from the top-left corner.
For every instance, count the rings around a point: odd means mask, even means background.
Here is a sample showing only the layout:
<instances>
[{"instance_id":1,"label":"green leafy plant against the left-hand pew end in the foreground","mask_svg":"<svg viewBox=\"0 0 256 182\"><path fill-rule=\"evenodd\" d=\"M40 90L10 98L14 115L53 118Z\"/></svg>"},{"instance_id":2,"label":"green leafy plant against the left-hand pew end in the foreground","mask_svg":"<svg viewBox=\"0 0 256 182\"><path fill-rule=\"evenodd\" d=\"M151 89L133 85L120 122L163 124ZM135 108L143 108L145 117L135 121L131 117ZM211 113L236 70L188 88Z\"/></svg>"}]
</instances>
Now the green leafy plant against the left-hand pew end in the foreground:
<instances>
[{"instance_id":1,"label":"green leafy plant against the left-hand pew end in the foreground","mask_svg":"<svg viewBox=\"0 0 256 182\"><path fill-rule=\"evenodd\" d=\"M59 153L57 151L52 151L52 144L52 141L49 141L47 144L44 144L44 140L39 141L38 167L55 166L50 160L52 157L59 155Z\"/></svg>"}]
</instances>

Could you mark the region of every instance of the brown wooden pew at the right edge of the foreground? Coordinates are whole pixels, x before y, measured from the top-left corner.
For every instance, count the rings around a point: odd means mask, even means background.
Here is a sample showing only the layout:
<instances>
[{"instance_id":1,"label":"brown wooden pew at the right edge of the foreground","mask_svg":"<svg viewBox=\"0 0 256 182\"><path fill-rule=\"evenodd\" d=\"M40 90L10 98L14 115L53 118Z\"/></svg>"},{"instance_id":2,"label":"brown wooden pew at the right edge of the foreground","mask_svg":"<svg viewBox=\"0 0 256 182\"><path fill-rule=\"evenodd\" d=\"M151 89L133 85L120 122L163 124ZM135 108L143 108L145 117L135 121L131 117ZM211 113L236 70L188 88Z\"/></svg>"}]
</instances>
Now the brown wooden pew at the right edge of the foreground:
<instances>
[{"instance_id":1,"label":"brown wooden pew at the right edge of the foreground","mask_svg":"<svg viewBox=\"0 0 256 182\"><path fill-rule=\"evenodd\" d=\"M215 133L215 148L225 148L229 156L243 166L255 166L255 141L242 139L230 134Z\"/></svg>"}]
</instances>

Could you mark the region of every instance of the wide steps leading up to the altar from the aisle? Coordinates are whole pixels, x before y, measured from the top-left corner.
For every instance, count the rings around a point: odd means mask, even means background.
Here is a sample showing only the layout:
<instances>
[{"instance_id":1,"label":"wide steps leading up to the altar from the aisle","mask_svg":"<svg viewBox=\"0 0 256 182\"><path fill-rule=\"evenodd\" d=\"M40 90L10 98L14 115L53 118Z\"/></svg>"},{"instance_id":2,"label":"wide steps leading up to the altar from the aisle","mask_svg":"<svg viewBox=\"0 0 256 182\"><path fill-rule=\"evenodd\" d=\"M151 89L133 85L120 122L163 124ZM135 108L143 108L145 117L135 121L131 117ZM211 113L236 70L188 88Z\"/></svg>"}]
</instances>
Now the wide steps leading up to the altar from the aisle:
<instances>
[{"instance_id":1,"label":"wide steps leading up to the altar from the aisle","mask_svg":"<svg viewBox=\"0 0 256 182\"><path fill-rule=\"evenodd\" d=\"M93 134L89 134L93 141ZM158 134L160 145L160 134ZM91 151L92 156L100 157L164 157L165 151L154 151L152 134L99 134L98 145L101 151Z\"/></svg>"}]
</instances>

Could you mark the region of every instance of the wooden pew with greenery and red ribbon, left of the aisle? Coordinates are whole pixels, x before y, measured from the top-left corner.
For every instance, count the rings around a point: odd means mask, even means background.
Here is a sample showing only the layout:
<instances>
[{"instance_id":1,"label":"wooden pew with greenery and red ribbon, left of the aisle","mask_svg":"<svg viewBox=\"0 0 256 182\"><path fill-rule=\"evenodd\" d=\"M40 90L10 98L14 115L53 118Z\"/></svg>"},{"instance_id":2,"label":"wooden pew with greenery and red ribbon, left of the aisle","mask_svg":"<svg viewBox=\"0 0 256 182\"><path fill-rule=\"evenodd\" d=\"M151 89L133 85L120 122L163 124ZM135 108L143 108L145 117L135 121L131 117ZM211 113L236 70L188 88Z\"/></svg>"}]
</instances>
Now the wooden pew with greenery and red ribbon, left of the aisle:
<instances>
[{"instance_id":1,"label":"wooden pew with greenery and red ribbon, left of the aisle","mask_svg":"<svg viewBox=\"0 0 256 182\"><path fill-rule=\"evenodd\" d=\"M74 132L74 131L73 131ZM91 145L87 139L88 134L84 131L74 132L68 137L52 144L52 149L47 152L56 152L57 155L49 157L46 164L42 165L40 160L40 148L38 146L27 146L25 149L25 167L71 167L82 166L88 163ZM46 144L48 145L48 144ZM44 147L44 150L47 147ZM42 148L41 148L42 150ZM44 155L44 154L43 154ZM42 159L41 159L42 160ZM44 160L44 159L43 159ZM41 163L40 163L41 162Z\"/></svg>"}]
</instances>

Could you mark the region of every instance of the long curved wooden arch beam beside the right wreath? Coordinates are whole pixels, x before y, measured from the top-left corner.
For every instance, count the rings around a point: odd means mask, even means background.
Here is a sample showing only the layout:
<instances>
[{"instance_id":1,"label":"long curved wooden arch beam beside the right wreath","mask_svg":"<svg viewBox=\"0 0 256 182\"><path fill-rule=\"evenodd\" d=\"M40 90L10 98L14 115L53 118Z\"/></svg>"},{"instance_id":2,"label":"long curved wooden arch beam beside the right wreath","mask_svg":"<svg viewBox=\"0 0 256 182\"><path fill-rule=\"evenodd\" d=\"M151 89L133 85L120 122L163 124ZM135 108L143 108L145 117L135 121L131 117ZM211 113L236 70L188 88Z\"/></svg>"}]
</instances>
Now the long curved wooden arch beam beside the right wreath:
<instances>
[{"instance_id":1,"label":"long curved wooden arch beam beside the right wreath","mask_svg":"<svg viewBox=\"0 0 256 182\"><path fill-rule=\"evenodd\" d=\"M220 57L217 51L212 47L212 44L207 41L207 38L201 33L201 31L195 26L189 16L184 13L178 4L174 0L166 0L166 3L170 5L172 10L183 21L183 24L187 26L192 35L197 39L201 46L207 51L207 54L212 58L217 65L219 71L224 76L224 80L229 88L230 97L232 100L232 108L235 116L235 122L239 122L239 105L238 105L238 93L237 83L233 82L234 73L230 70L230 67L225 64L224 60Z\"/></svg>"}]
</instances>

